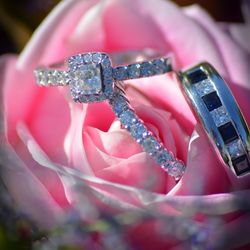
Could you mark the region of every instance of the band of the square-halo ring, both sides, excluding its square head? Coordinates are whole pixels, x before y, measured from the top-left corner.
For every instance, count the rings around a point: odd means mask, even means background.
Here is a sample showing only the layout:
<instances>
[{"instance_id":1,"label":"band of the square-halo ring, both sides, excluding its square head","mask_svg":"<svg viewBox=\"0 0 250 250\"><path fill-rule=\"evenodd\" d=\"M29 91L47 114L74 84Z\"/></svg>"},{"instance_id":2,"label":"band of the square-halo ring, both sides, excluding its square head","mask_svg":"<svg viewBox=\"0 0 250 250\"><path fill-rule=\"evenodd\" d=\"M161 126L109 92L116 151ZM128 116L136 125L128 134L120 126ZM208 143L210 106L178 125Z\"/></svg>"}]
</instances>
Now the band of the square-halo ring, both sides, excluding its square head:
<instances>
[{"instance_id":1,"label":"band of the square-halo ring, both sides, excluding its square head","mask_svg":"<svg viewBox=\"0 0 250 250\"><path fill-rule=\"evenodd\" d=\"M124 81L129 79L137 79L164 74L172 71L170 58L161 57L158 59L152 59L155 58L156 55L159 55L159 53L149 49L142 51L124 51L111 53L110 57L112 58L112 62L116 65L119 65L112 69L113 79L115 81ZM135 63L131 63L131 61ZM68 85L68 70L59 69L65 68L65 65L67 65L67 60L65 62L59 62L53 65L49 65L48 67L38 67L35 70L37 84L40 86Z\"/></svg>"}]
</instances>

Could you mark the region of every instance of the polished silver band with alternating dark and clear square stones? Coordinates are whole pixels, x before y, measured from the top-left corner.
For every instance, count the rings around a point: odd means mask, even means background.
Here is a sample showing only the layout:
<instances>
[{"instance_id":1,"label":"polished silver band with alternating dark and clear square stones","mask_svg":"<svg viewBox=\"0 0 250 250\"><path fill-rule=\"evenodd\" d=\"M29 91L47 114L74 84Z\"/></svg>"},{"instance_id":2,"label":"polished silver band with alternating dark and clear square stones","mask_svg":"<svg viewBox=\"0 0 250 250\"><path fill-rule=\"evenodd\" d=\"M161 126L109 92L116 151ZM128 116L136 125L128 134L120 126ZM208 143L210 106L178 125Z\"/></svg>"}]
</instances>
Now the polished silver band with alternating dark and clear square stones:
<instances>
[{"instance_id":1,"label":"polished silver band with alternating dark and clear square stones","mask_svg":"<svg viewBox=\"0 0 250 250\"><path fill-rule=\"evenodd\" d=\"M233 94L208 63L180 72L181 85L222 162L237 176L250 173L250 134Z\"/></svg>"}]
</instances>

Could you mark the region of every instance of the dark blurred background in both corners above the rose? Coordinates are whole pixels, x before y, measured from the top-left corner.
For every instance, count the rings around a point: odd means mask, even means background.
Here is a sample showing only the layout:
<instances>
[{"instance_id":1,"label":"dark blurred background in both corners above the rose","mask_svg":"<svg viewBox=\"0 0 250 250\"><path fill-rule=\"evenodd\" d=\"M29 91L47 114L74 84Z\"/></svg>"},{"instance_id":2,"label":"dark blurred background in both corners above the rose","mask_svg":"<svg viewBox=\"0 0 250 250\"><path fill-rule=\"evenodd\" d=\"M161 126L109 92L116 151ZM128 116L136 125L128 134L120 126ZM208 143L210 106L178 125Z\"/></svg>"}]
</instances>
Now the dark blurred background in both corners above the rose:
<instances>
[{"instance_id":1,"label":"dark blurred background in both corners above the rose","mask_svg":"<svg viewBox=\"0 0 250 250\"><path fill-rule=\"evenodd\" d=\"M59 2L60 0L0 0L0 54L19 53L36 27ZM242 0L173 0L173 2L181 6L200 4L217 21L243 21Z\"/></svg>"}]
</instances>

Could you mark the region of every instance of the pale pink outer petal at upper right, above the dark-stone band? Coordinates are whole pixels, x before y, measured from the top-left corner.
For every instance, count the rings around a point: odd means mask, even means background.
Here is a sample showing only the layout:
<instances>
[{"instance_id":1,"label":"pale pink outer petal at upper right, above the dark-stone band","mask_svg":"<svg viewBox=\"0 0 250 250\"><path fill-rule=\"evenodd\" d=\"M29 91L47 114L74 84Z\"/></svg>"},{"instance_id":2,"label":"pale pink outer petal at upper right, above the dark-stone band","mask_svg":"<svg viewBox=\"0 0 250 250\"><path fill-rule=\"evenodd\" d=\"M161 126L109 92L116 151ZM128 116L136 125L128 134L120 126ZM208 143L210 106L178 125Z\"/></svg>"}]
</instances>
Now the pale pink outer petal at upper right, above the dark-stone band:
<instances>
[{"instance_id":1,"label":"pale pink outer petal at upper right, above the dark-stone band","mask_svg":"<svg viewBox=\"0 0 250 250\"><path fill-rule=\"evenodd\" d=\"M200 55L212 63L223 76L241 86L249 87L249 53L246 53L229 34L223 32L220 26L198 6L187 9L186 13L207 32L210 43L215 46L214 51L220 56L220 61L210 58L210 52L205 49Z\"/></svg>"}]
</instances>

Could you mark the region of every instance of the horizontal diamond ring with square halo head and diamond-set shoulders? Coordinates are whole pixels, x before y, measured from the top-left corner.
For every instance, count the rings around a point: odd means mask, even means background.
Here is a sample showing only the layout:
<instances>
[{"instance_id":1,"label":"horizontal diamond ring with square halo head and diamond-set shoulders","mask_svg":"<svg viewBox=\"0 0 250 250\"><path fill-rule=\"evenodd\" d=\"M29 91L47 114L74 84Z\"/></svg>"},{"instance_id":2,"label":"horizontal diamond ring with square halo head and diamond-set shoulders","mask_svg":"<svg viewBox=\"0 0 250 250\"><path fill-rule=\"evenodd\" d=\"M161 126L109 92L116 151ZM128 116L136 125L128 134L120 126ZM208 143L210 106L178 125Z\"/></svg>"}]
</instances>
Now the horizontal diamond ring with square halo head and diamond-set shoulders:
<instances>
[{"instance_id":1,"label":"horizontal diamond ring with square halo head and diamond-set shoulders","mask_svg":"<svg viewBox=\"0 0 250 250\"><path fill-rule=\"evenodd\" d=\"M41 86L69 85L76 102L96 102L109 99L114 82L164 74L172 70L169 58L157 58L126 66L111 66L106 53L94 52L71 56L66 60L68 70L40 67L35 70L36 82Z\"/></svg>"}]
</instances>

